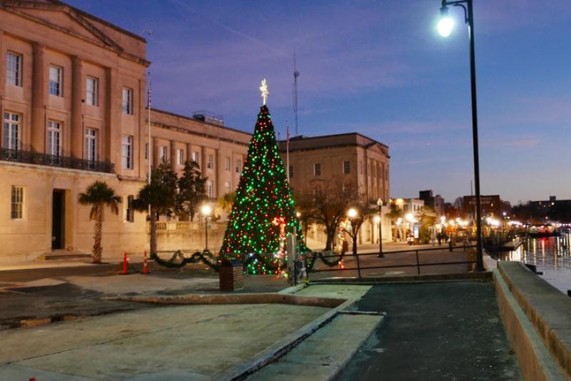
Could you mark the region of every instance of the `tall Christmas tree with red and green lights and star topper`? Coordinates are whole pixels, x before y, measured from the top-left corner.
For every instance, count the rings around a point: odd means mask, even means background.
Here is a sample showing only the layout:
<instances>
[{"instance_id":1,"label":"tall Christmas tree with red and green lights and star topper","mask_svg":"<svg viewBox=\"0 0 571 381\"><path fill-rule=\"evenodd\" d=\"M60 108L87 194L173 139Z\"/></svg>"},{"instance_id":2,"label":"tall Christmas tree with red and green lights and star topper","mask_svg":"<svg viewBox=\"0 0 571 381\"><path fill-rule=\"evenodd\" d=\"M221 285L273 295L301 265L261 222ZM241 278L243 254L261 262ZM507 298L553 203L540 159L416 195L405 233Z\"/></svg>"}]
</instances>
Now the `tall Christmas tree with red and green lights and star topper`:
<instances>
[{"instance_id":1,"label":"tall Christmas tree with red and green lights and star topper","mask_svg":"<svg viewBox=\"0 0 571 381\"><path fill-rule=\"evenodd\" d=\"M301 225L266 106L265 80L261 90L264 104L248 147L221 257L246 255L248 273L272 274L284 267L286 235L295 231L297 253L306 253L308 248L303 243Z\"/></svg>"}]
</instances>

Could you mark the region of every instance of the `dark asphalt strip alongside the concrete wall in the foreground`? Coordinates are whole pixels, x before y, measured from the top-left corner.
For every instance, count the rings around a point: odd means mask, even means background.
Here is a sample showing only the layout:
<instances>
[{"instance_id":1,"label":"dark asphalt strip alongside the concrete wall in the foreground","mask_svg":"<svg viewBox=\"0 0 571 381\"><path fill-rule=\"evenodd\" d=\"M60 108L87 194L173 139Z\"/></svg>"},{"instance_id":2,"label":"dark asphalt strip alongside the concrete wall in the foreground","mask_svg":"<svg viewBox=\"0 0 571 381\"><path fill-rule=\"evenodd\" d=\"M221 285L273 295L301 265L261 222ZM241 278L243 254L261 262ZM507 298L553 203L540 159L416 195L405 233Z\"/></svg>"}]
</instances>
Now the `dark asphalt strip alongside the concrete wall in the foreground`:
<instances>
[{"instance_id":1,"label":"dark asphalt strip alongside the concrete wall in the foreground","mask_svg":"<svg viewBox=\"0 0 571 381\"><path fill-rule=\"evenodd\" d=\"M521 380L491 282L375 285L358 310L387 317L339 380Z\"/></svg>"}]
</instances>

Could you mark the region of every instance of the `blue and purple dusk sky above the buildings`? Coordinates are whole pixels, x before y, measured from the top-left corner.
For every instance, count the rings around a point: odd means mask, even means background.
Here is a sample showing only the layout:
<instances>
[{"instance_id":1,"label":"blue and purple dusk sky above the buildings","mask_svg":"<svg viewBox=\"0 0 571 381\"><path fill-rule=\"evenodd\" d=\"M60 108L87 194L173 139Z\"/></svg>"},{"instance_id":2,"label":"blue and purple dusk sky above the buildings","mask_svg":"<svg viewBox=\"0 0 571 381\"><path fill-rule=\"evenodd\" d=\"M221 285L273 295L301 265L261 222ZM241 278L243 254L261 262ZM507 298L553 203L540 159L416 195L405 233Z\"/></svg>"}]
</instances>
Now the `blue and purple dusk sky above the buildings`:
<instances>
[{"instance_id":1,"label":"blue and purple dusk sky above the buildings","mask_svg":"<svg viewBox=\"0 0 571 381\"><path fill-rule=\"evenodd\" d=\"M148 40L153 107L253 132L267 78L276 133L358 132L390 149L390 193L447 201L473 179L468 28L440 1L69 0ZM571 198L571 1L474 0L482 194ZM147 31L151 30L151 36Z\"/></svg>"}]
</instances>

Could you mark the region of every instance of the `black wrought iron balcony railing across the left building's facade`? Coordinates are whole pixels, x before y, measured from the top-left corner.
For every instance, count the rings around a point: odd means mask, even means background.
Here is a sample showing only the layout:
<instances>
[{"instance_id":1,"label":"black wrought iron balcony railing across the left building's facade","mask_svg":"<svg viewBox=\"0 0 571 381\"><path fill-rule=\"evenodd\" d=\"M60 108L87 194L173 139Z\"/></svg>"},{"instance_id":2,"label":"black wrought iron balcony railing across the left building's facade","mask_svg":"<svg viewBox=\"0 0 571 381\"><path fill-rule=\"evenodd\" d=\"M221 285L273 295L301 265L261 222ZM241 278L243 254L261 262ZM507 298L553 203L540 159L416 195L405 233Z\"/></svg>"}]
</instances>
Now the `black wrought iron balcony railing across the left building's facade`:
<instances>
[{"instance_id":1,"label":"black wrought iron balcony railing across the left building's facade","mask_svg":"<svg viewBox=\"0 0 571 381\"><path fill-rule=\"evenodd\" d=\"M113 163L108 161L91 161L69 156L46 155L31 151L0 148L0 161L16 161L18 163L37 164L60 168L81 169L82 171L113 173Z\"/></svg>"}]
</instances>

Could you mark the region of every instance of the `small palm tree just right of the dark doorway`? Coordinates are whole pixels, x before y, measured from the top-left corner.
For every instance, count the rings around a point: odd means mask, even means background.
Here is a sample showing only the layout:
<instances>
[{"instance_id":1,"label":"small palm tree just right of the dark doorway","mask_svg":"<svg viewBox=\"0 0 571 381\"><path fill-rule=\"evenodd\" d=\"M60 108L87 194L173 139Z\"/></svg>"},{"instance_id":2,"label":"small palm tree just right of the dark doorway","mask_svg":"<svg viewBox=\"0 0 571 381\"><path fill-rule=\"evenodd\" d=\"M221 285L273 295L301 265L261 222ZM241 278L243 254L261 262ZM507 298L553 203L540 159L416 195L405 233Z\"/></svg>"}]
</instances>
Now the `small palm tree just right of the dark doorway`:
<instances>
[{"instance_id":1,"label":"small palm tree just right of the dark doorway","mask_svg":"<svg viewBox=\"0 0 571 381\"><path fill-rule=\"evenodd\" d=\"M115 214L119 213L118 203L121 198L115 195L113 188L109 188L105 181L96 181L88 186L85 193L79 193L79 203L81 205L91 205L89 219L95 220L94 228L94 261L101 263L101 226L103 225L103 206L108 205Z\"/></svg>"}]
</instances>

